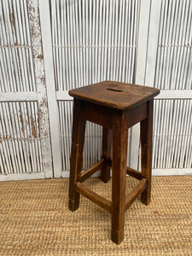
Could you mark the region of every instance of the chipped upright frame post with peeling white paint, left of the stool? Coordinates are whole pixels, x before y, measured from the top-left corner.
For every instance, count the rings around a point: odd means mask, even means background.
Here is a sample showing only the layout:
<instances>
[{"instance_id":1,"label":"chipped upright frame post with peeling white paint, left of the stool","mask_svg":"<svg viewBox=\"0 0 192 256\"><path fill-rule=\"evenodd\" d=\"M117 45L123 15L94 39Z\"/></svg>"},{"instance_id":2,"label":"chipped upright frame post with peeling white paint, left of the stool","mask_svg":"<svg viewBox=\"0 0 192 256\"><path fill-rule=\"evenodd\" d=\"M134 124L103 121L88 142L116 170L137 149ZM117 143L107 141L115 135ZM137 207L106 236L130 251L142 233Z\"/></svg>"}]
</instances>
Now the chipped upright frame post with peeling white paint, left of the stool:
<instances>
[{"instance_id":1,"label":"chipped upright frame post with peeling white paint, left of the stool","mask_svg":"<svg viewBox=\"0 0 192 256\"><path fill-rule=\"evenodd\" d=\"M41 38L38 0L28 0L29 21L32 37L32 55L35 68L35 79L38 91L38 131L36 136L41 136L41 151L46 177L53 174L52 157L49 137L49 113L44 73L44 54ZM38 134L37 134L38 132Z\"/></svg>"}]
</instances>

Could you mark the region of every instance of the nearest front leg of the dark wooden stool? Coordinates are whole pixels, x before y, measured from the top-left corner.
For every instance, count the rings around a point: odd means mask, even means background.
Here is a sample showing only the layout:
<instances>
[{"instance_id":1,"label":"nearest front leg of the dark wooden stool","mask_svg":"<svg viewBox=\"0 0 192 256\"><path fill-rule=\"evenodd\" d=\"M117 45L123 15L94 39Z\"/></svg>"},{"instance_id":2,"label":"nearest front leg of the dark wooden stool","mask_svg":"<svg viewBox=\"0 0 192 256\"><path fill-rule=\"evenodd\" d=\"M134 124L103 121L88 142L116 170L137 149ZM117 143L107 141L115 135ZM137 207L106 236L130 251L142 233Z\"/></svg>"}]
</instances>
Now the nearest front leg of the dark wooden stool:
<instances>
[{"instance_id":1,"label":"nearest front leg of the dark wooden stool","mask_svg":"<svg viewBox=\"0 0 192 256\"><path fill-rule=\"evenodd\" d=\"M113 122L113 174L112 174L112 241L119 244L124 239L125 177L128 125L124 115Z\"/></svg>"}]
</instances>

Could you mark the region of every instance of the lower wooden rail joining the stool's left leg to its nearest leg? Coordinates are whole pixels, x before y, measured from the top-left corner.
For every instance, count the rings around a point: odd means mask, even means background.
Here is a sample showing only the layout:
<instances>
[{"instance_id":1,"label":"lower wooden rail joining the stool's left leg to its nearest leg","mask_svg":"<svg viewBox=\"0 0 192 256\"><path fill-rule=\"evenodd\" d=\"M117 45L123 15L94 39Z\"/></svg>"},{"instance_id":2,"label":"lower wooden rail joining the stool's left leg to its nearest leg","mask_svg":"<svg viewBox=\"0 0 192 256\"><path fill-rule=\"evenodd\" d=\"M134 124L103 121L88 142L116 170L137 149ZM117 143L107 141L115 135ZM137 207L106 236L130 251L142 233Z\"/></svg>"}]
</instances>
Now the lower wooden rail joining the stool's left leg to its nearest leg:
<instances>
[{"instance_id":1,"label":"lower wooden rail joining the stool's left leg to its nearest leg","mask_svg":"<svg viewBox=\"0 0 192 256\"><path fill-rule=\"evenodd\" d=\"M90 201L95 202L96 205L98 205L99 207L102 207L107 212L111 212L111 202L103 198L101 195L96 194L82 183L77 183L76 189L81 195L84 195L85 197L90 199Z\"/></svg>"}]
</instances>

